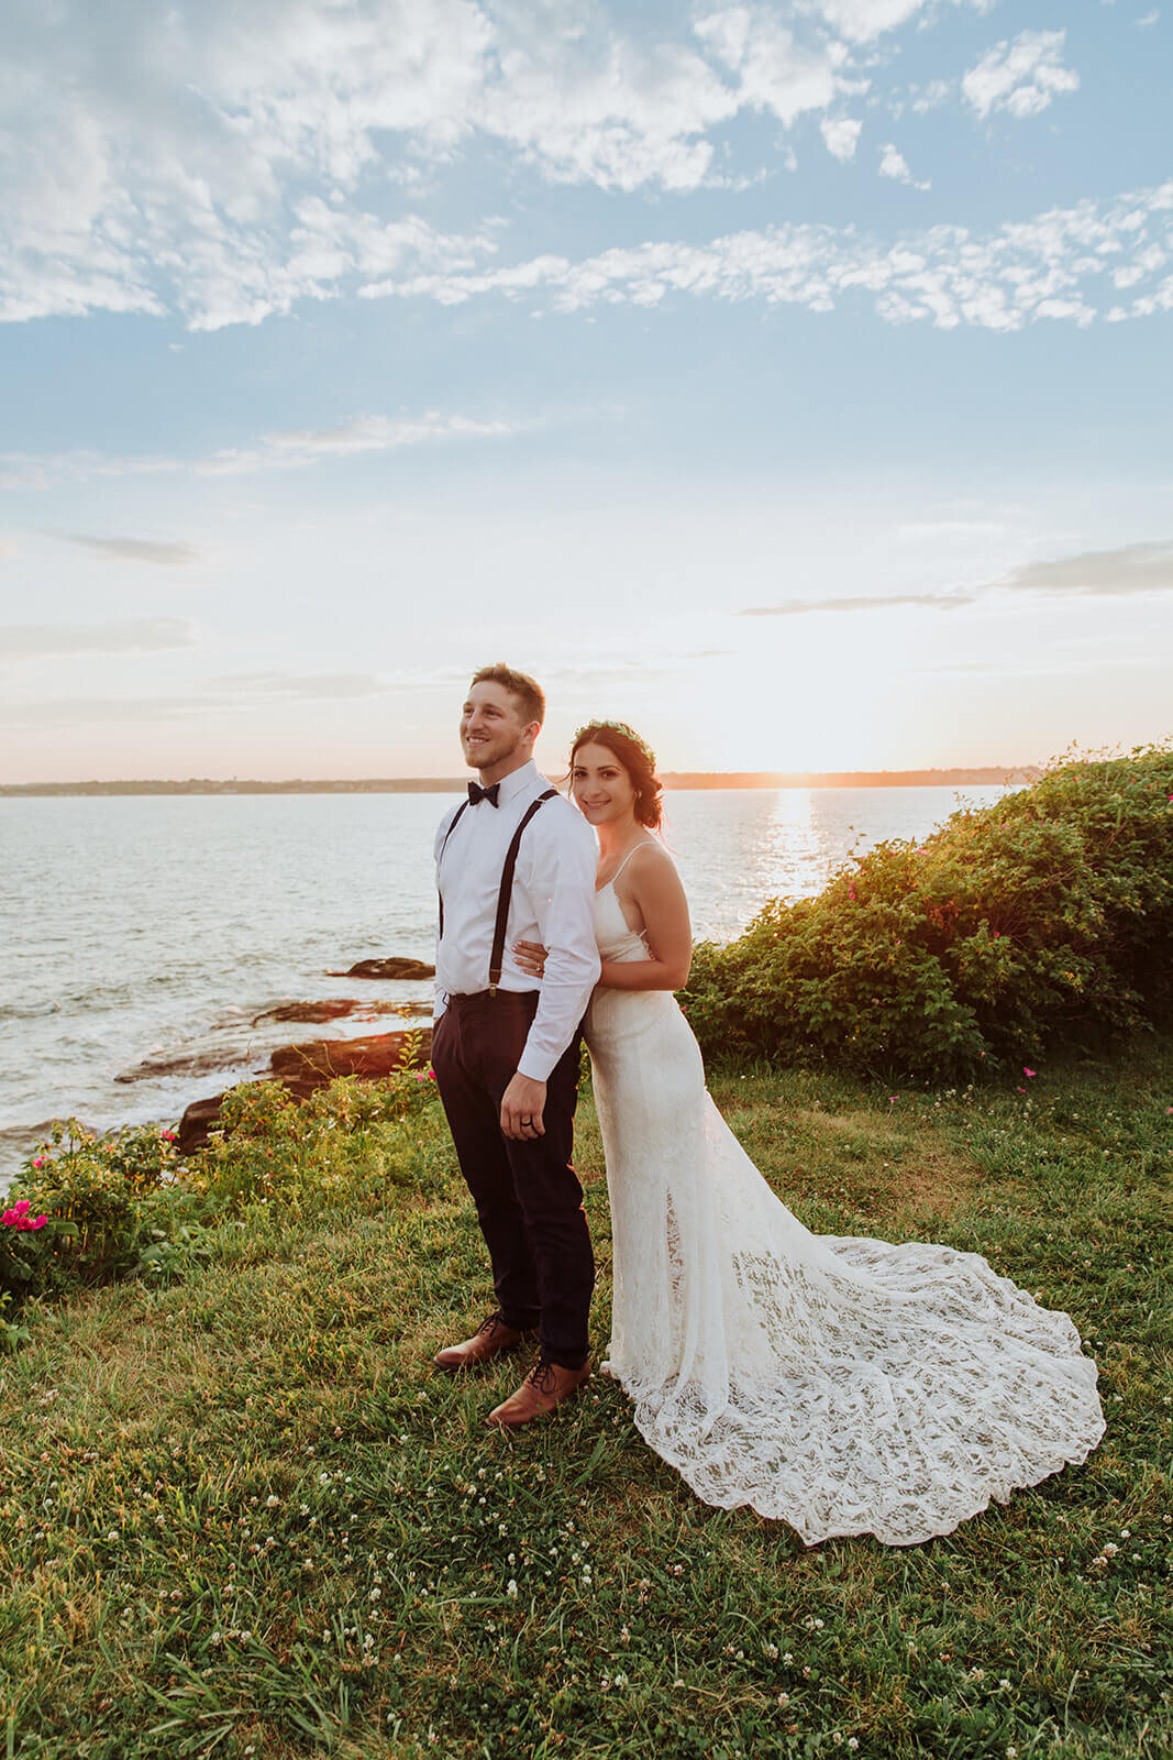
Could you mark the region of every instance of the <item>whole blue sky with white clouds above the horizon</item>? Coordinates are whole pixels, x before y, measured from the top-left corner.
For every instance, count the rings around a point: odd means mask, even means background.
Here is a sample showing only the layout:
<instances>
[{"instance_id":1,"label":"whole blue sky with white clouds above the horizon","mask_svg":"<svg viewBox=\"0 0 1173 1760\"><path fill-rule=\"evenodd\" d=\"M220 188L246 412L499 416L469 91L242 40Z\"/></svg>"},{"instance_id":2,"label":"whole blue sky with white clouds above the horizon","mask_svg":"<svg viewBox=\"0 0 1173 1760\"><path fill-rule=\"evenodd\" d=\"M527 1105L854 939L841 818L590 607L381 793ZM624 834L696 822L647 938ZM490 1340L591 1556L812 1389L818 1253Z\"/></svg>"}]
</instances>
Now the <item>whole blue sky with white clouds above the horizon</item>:
<instances>
[{"instance_id":1,"label":"whole blue sky with white clouds above the horizon","mask_svg":"<svg viewBox=\"0 0 1173 1760\"><path fill-rule=\"evenodd\" d=\"M7 0L0 780L1173 734L1173 0Z\"/></svg>"}]
</instances>

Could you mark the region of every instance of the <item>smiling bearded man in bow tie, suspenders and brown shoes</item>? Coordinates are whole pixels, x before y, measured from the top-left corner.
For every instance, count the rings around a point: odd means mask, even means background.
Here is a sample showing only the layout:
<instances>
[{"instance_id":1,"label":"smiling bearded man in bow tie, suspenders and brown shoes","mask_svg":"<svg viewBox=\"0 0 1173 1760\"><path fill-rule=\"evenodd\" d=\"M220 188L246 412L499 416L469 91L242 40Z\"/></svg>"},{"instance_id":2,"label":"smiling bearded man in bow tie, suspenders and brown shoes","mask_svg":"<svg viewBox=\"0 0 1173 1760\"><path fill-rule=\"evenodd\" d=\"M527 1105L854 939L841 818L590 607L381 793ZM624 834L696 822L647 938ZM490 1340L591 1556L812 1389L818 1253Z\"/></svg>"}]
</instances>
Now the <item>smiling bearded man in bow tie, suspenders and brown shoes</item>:
<instances>
[{"instance_id":1,"label":"smiling bearded man in bow tie, suspenders and brown shoes","mask_svg":"<svg viewBox=\"0 0 1173 1760\"><path fill-rule=\"evenodd\" d=\"M594 1257L572 1167L579 1026L598 982L594 836L533 764L545 697L524 672L482 667L461 711L480 774L436 832L433 1067L492 1262L496 1313L436 1353L463 1371L538 1329L538 1362L487 1424L517 1429L591 1375ZM517 940L549 949L540 987Z\"/></svg>"}]
</instances>

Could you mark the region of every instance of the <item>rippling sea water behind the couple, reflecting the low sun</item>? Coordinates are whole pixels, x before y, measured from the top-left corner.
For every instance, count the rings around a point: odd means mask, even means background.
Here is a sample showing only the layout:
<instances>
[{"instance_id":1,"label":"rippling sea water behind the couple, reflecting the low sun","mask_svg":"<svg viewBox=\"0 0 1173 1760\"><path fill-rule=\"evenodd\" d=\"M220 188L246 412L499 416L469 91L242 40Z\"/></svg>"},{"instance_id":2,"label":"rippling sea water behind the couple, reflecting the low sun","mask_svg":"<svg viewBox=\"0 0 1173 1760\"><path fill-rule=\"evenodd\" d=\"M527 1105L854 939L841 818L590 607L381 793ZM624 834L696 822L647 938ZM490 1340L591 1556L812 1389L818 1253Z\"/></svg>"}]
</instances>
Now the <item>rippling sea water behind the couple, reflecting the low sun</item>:
<instances>
[{"instance_id":1,"label":"rippling sea water behind the couple, reflecting the low sun","mask_svg":"<svg viewBox=\"0 0 1173 1760\"><path fill-rule=\"evenodd\" d=\"M853 843L925 836L1001 788L739 788L667 796L698 936L811 896ZM431 959L431 847L452 796L0 799L0 1176L53 1118L174 1121L276 1044L385 1031L431 982L331 977ZM329 1026L260 1016L352 998ZM123 1077L121 1081L118 1077Z\"/></svg>"}]
</instances>

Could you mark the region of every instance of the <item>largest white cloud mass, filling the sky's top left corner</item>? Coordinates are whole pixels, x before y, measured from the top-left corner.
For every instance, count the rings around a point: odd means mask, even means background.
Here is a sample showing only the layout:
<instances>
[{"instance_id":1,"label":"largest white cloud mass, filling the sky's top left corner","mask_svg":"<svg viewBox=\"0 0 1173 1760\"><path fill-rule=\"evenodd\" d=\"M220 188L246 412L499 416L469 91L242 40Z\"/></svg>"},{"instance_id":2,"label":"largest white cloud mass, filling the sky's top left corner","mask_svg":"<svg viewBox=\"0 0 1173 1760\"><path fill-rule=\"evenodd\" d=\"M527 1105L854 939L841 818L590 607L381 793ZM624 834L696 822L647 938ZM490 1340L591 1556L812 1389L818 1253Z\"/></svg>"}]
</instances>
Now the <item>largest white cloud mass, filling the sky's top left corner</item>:
<instances>
[{"instance_id":1,"label":"largest white cloud mass, filling the sky's top left corner","mask_svg":"<svg viewBox=\"0 0 1173 1760\"><path fill-rule=\"evenodd\" d=\"M334 299L353 278L484 260L491 236L413 211L477 155L510 180L607 192L742 185L723 157L737 118L790 130L830 116L869 90L878 39L936 12L802 0L651 21L617 0L26 0L18 18L0 81L0 319L179 313L216 329ZM995 79L974 76L981 92ZM1053 92L1075 76L1048 55L1029 77ZM837 157L853 128L828 120ZM791 157L788 141L774 151Z\"/></svg>"}]
</instances>

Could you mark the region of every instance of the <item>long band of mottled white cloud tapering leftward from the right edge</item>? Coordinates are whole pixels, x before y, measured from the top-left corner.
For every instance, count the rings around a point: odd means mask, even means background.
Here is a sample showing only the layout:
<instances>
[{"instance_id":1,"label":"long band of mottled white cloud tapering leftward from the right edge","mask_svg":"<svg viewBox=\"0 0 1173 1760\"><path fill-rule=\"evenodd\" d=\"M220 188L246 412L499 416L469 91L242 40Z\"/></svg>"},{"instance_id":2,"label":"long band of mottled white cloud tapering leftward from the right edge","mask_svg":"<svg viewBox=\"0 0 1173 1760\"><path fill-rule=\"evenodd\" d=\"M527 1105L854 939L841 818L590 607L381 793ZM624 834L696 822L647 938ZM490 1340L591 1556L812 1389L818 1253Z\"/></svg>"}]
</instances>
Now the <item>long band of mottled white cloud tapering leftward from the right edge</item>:
<instances>
[{"instance_id":1,"label":"long band of mottled white cloud tapering leftward from the right edge","mask_svg":"<svg viewBox=\"0 0 1173 1760\"><path fill-rule=\"evenodd\" d=\"M1082 201L990 234L960 225L906 232L892 245L851 227L779 225L732 232L707 245L649 241L572 262L543 255L471 275L415 276L361 287L361 296L422 297L443 304L499 294L543 301L556 312L596 304L654 306L668 296L730 303L802 304L830 312L839 299L871 297L881 319L929 319L939 329L971 324L1018 331L1036 319L1087 326L1108 278L1134 280L1127 308L1108 317L1173 310L1173 181L1115 201ZM1101 297L1106 308L1108 301Z\"/></svg>"}]
</instances>

